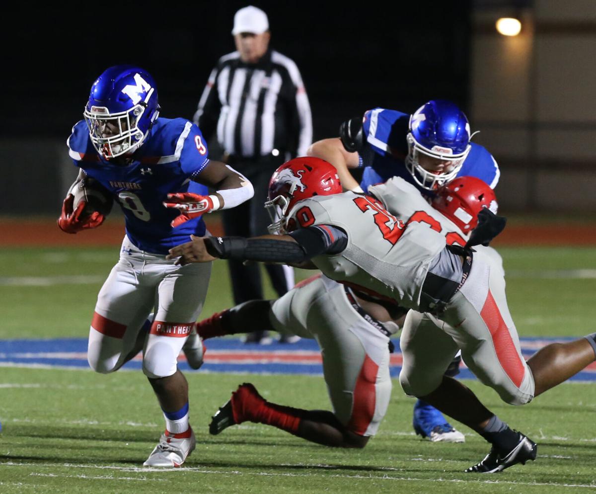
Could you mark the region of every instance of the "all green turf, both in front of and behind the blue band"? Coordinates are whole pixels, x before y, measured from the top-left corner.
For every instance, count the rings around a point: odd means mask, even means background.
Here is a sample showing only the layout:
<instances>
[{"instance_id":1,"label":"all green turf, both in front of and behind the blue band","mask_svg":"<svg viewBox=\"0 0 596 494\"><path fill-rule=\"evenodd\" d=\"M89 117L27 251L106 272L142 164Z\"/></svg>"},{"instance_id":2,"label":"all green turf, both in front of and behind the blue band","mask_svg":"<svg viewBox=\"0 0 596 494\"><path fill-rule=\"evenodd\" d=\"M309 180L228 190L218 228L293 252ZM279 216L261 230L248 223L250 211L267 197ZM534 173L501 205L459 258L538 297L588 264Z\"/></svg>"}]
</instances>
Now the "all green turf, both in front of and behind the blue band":
<instances>
[{"instance_id":1,"label":"all green turf, both in front of and behind the blue band","mask_svg":"<svg viewBox=\"0 0 596 494\"><path fill-rule=\"evenodd\" d=\"M1 252L0 339L87 335L117 247ZM499 252L520 335L595 331L596 249ZM219 262L204 314L229 305L225 264ZM467 428L459 426L465 444L432 444L414 436L413 401L398 382L381 430L367 448L334 450L264 425L207 433L210 415L240 382L254 382L275 402L328 409L321 378L189 373L197 450L185 468L153 471L141 464L163 420L141 372L0 372L0 493L596 492L595 384L565 384L530 405L513 407L467 381L502 419L539 443L538 461L486 477L462 473L488 452L487 443Z\"/></svg>"}]
</instances>

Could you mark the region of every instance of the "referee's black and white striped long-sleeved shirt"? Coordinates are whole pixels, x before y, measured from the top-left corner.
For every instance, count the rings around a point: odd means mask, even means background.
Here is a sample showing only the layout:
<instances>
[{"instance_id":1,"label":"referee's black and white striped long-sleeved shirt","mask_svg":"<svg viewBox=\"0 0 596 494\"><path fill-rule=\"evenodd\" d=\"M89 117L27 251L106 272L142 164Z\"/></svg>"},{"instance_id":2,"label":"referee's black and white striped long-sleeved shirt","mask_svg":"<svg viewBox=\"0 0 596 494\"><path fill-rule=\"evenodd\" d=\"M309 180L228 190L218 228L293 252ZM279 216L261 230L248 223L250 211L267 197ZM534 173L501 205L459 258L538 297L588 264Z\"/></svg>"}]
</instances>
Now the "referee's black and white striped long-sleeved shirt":
<instances>
[{"instance_id":1,"label":"referee's black and white striped long-sleeved shirt","mask_svg":"<svg viewBox=\"0 0 596 494\"><path fill-rule=\"evenodd\" d=\"M209 76L193 118L209 140L245 158L305 156L312 142L311 107L296 64L269 50L256 64L224 55Z\"/></svg>"}]
</instances>

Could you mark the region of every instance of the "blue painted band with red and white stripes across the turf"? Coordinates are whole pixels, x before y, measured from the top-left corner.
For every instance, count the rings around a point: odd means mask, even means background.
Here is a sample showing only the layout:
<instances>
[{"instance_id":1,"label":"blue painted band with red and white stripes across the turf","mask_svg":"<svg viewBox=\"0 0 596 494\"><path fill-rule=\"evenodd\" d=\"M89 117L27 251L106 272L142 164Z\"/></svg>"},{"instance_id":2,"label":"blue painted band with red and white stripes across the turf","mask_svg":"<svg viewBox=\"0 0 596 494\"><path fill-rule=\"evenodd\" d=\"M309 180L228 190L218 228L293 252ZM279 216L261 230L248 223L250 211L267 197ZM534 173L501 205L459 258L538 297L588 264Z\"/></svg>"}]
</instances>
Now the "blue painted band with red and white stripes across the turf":
<instances>
[{"instance_id":1,"label":"blue painted band with red and white stripes across the turf","mask_svg":"<svg viewBox=\"0 0 596 494\"><path fill-rule=\"evenodd\" d=\"M572 339L575 338L522 338L520 342L524 357L528 358L549 343ZM391 356L390 370L392 377L396 378L401 370L402 354L399 340L394 343L396 351ZM214 338L206 341L206 347L205 363L200 370L191 370L182 354L178 361L180 369L185 372L322 375L321 354L313 339L302 339L293 344L274 342L256 345L244 344L235 338ZM2 340L0 366L89 369L86 352L87 340L83 338ZM139 354L123 369L141 369L141 365ZM475 379L464 365L461 366L460 378ZM570 381L596 381L596 363Z\"/></svg>"}]
</instances>

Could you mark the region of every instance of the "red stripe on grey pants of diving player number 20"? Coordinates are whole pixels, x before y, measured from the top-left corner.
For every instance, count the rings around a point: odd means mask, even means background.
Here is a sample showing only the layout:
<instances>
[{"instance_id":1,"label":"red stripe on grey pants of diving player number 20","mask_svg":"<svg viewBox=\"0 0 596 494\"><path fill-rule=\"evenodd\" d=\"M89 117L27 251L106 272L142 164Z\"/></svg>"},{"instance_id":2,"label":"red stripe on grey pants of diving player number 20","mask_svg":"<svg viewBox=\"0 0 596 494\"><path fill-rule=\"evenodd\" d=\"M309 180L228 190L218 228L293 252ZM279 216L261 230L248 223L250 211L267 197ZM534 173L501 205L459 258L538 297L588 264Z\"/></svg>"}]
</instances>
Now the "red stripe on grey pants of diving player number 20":
<instances>
[{"instance_id":1,"label":"red stripe on grey pants of diving player number 20","mask_svg":"<svg viewBox=\"0 0 596 494\"><path fill-rule=\"evenodd\" d=\"M480 311L480 317L482 317L491 332L499 363L501 363L503 370L505 370L511 381L519 388L523 381L525 368L490 291L486 297L484 307Z\"/></svg>"}]
</instances>

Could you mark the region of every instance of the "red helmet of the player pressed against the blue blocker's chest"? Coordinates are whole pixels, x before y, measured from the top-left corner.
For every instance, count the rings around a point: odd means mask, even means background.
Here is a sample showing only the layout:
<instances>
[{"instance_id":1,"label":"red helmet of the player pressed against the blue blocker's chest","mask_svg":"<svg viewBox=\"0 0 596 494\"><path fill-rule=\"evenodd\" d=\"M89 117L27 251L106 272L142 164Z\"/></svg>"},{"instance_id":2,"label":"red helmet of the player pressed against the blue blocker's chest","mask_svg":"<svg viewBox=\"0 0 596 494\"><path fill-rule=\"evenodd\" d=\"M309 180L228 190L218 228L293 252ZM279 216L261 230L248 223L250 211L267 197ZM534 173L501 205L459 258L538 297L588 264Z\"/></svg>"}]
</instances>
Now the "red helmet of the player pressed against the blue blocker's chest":
<instances>
[{"instance_id":1,"label":"red helmet of the player pressed against the blue blocker's chest","mask_svg":"<svg viewBox=\"0 0 596 494\"><path fill-rule=\"evenodd\" d=\"M453 221L464 233L478 224L478 213L489 208L496 214L495 192L476 177L457 177L445 184L434 197L432 206Z\"/></svg>"}]
</instances>

